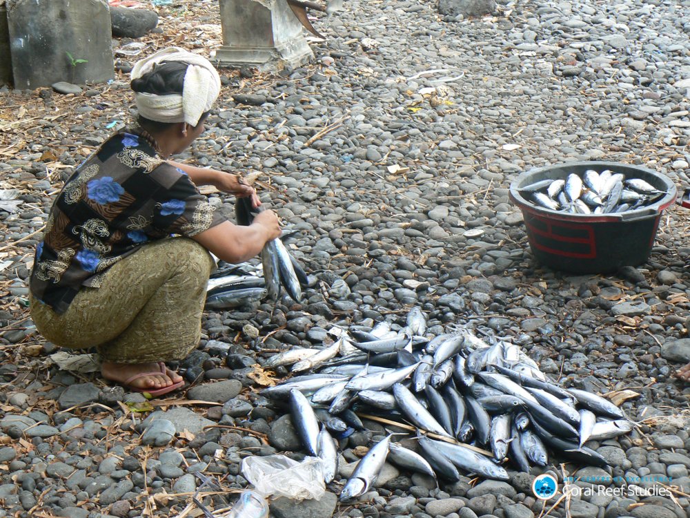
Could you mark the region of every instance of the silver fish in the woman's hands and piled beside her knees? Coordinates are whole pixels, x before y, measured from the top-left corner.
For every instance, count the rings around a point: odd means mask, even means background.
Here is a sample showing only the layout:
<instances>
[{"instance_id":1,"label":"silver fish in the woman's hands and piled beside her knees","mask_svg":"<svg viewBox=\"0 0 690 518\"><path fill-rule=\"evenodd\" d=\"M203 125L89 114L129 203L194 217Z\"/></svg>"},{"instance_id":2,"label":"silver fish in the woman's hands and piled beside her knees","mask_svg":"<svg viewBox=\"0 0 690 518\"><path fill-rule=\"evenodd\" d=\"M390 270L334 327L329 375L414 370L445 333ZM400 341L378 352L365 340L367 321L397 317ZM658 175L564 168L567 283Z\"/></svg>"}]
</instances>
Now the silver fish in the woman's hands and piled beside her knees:
<instances>
[{"instance_id":1,"label":"silver fish in the woman's hands and piled beside her knees","mask_svg":"<svg viewBox=\"0 0 690 518\"><path fill-rule=\"evenodd\" d=\"M251 224L254 209L249 198L237 198L235 214L237 224ZM261 260L259 266L243 262L217 268L208 280L206 307L229 309L266 296L277 301L282 289L296 302L301 301L302 288L308 286L306 272L279 238L264 245Z\"/></svg>"}]
</instances>

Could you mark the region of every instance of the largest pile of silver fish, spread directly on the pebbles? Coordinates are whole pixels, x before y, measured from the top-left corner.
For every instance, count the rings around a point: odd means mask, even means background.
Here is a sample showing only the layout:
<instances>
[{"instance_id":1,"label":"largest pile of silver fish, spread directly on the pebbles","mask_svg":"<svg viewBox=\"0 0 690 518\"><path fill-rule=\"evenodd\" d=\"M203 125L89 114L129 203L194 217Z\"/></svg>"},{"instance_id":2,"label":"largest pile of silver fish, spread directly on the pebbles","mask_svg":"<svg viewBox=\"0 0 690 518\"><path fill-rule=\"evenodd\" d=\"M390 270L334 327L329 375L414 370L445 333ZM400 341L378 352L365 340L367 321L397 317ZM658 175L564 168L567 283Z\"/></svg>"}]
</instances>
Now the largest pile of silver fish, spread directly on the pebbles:
<instances>
[{"instance_id":1,"label":"largest pile of silver fish, spread directly on the pebbles","mask_svg":"<svg viewBox=\"0 0 690 518\"><path fill-rule=\"evenodd\" d=\"M546 466L549 450L607 468L585 443L633 428L607 399L547 378L517 345L459 326L428 336L417 307L397 332L384 322L331 333L335 341L322 349L295 348L268 358L264 368L290 366L293 376L262 390L289 402L304 447L326 466L326 482L337 473L334 437L364 429L357 414L409 423L419 445L404 448L393 434L373 445L348 479L342 501L366 492L386 459L448 481L457 480L459 470L508 480L505 461L527 472L531 465Z\"/></svg>"}]
</instances>

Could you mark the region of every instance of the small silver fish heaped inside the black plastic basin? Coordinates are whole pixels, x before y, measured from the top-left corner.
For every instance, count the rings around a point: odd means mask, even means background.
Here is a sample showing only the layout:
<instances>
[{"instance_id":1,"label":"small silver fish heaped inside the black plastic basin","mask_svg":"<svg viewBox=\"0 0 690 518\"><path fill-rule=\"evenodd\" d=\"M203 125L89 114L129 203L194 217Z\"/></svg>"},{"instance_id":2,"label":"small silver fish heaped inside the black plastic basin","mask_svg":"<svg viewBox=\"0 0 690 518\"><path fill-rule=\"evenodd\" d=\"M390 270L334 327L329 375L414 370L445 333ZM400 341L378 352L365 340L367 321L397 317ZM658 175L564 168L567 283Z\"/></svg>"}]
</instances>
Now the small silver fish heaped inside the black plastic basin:
<instances>
[{"instance_id":1,"label":"small silver fish heaped inside the black plastic basin","mask_svg":"<svg viewBox=\"0 0 690 518\"><path fill-rule=\"evenodd\" d=\"M666 193L640 178L625 178L605 169L570 173L565 180L540 180L520 188L532 202L544 209L573 214L609 214L645 207Z\"/></svg>"}]
</instances>

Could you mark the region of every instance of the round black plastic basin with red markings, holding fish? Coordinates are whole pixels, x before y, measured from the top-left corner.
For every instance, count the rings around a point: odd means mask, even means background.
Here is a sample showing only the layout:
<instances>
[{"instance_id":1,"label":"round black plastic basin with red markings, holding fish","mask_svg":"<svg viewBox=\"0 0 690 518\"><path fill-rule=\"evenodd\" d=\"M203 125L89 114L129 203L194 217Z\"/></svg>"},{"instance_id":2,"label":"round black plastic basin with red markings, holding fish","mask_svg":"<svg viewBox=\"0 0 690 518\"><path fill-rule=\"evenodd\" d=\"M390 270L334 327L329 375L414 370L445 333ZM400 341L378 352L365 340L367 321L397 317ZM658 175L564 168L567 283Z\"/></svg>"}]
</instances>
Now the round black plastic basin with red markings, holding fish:
<instances>
[{"instance_id":1,"label":"round black plastic basin with red markings, holding fish","mask_svg":"<svg viewBox=\"0 0 690 518\"><path fill-rule=\"evenodd\" d=\"M520 189L540 180L565 179L570 173L610 169L626 179L640 178L666 193L660 200L633 211L571 214L535 205ZM580 274L609 273L636 266L649 258L662 212L676 200L676 185L646 167L618 162L566 162L521 173L511 184L510 198L522 210L527 239L542 265Z\"/></svg>"}]
</instances>

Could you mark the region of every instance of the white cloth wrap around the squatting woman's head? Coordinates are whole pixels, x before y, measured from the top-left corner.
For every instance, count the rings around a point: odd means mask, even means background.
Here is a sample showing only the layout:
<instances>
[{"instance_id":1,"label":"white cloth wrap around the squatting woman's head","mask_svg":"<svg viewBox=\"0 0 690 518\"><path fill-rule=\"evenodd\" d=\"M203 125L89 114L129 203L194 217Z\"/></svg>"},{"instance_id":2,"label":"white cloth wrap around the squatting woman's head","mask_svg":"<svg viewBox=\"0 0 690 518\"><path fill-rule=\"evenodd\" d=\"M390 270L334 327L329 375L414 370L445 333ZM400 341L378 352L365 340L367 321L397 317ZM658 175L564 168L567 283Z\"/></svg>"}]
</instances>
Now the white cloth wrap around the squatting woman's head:
<instances>
[{"instance_id":1,"label":"white cloth wrap around the squatting woman's head","mask_svg":"<svg viewBox=\"0 0 690 518\"><path fill-rule=\"evenodd\" d=\"M182 95L135 92L139 115L156 122L186 122L191 126L197 126L201 115L211 109L220 93L218 71L205 57L181 48L170 47L137 61L132 68L132 79L139 79L163 61L180 61L188 64Z\"/></svg>"}]
</instances>

